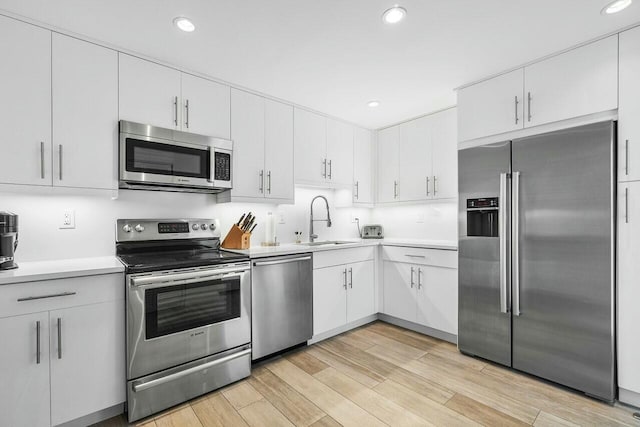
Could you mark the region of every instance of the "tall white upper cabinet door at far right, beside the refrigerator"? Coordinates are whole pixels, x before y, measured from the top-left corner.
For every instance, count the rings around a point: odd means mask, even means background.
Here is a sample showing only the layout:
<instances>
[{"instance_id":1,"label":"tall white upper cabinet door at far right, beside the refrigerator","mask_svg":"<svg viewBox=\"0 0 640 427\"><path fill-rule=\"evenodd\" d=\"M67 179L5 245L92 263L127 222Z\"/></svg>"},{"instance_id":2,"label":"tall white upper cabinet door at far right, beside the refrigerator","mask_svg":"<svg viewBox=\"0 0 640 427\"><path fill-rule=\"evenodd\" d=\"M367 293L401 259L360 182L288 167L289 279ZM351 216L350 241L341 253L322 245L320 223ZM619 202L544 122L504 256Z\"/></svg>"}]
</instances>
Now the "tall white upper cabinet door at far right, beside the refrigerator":
<instances>
[{"instance_id":1,"label":"tall white upper cabinet door at far right, beside the refrigerator","mask_svg":"<svg viewBox=\"0 0 640 427\"><path fill-rule=\"evenodd\" d=\"M618 180L640 180L640 27L620 33Z\"/></svg>"}]
</instances>

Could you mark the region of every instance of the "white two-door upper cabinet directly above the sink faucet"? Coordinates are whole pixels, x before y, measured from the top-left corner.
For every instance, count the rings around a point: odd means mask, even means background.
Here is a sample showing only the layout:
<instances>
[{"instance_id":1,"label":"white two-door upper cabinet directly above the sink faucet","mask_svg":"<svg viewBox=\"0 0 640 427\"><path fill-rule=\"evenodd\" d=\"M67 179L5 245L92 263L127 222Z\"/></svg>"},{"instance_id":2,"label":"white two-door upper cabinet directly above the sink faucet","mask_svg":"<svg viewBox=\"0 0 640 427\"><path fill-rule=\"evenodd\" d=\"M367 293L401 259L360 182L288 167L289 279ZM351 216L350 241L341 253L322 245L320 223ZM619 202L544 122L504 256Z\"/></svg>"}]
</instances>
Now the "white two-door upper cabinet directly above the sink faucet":
<instances>
[{"instance_id":1,"label":"white two-door upper cabinet directly above the sink faucet","mask_svg":"<svg viewBox=\"0 0 640 427\"><path fill-rule=\"evenodd\" d=\"M295 181L346 187L353 183L353 127L295 109Z\"/></svg>"}]
</instances>

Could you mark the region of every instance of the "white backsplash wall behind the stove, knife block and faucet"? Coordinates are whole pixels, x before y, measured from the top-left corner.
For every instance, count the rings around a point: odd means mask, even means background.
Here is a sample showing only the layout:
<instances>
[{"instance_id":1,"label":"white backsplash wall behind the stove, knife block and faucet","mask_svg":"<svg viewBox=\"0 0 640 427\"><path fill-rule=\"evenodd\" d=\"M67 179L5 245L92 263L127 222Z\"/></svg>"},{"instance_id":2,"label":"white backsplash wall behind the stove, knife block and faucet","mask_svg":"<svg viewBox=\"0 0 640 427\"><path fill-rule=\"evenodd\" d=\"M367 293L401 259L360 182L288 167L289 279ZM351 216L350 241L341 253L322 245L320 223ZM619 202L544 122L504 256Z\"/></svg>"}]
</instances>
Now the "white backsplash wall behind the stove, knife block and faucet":
<instances>
[{"instance_id":1,"label":"white backsplash wall behind the stove, knife block and faucet","mask_svg":"<svg viewBox=\"0 0 640 427\"><path fill-rule=\"evenodd\" d=\"M59 193L24 194L0 193L0 211L19 215L18 262L54 260L76 257L112 255L115 252L115 221L118 218L218 218L224 237L231 224L238 221L243 212L257 216L258 226L253 232L252 245L264 240L263 220L267 212L284 215L284 224L277 225L278 241L293 242L294 231L303 232L303 240L309 236L309 203L318 194L329 200L333 226L316 222L315 231L320 240L356 238L356 225L351 216L358 216L361 223L370 221L371 210L363 208L336 208L333 191L296 189L296 205L266 205L257 203L216 204L215 197L204 194L164 193L152 191L121 190L119 197L74 196ZM76 228L59 229L63 211L75 210ZM325 218L321 200L316 201L316 218Z\"/></svg>"}]
</instances>

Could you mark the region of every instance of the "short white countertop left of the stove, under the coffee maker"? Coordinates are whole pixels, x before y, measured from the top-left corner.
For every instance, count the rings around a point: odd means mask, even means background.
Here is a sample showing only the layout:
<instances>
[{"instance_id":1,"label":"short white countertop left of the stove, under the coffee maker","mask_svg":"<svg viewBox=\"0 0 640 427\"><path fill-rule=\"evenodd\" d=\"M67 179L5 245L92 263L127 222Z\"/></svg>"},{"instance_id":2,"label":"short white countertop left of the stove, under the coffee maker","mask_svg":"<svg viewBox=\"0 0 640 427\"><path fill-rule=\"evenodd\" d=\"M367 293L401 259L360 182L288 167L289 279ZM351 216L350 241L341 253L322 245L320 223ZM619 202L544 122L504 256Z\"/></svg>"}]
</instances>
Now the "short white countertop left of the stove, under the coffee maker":
<instances>
[{"instance_id":1,"label":"short white countertop left of the stove, under the coffee maker","mask_svg":"<svg viewBox=\"0 0 640 427\"><path fill-rule=\"evenodd\" d=\"M0 285L122 272L115 256L19 262L18 268L0 272Z\"/></svg>"}]
</instances>

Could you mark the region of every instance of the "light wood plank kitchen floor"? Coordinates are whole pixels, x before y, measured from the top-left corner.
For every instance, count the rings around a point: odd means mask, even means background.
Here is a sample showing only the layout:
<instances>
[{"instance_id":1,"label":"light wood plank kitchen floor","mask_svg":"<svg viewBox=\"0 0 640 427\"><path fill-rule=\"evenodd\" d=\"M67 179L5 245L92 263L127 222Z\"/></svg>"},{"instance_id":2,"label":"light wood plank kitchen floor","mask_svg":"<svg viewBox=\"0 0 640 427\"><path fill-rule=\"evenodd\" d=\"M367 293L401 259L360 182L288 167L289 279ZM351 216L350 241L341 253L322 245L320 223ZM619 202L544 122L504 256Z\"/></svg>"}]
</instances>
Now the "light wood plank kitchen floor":
<instances>
[{"instance_id":1,"label":"light wood plank kitchen floor","mask_svg":"<svg viewBox=\"0 0 640 427\"><path fill-rule=\"evenodd\" d=\"M98 424L127 426L124 416ZM610 406L375 322L254 367L146 427L638 426Z\"/></svg>"}]
</instances>

